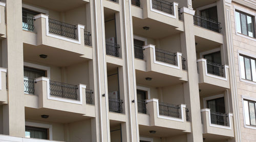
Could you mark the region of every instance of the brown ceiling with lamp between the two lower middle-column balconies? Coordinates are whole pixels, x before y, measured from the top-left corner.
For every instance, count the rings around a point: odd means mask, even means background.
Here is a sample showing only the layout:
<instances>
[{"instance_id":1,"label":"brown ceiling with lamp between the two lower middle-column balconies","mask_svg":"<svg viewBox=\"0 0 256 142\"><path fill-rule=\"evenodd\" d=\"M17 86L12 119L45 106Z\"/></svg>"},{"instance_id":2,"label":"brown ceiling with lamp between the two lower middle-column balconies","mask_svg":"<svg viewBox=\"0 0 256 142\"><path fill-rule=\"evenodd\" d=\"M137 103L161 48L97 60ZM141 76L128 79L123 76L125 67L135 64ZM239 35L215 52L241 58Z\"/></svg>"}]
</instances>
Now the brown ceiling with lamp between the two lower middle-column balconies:
<instances>
[{"instance_id":1,"label":"brown ceiling with lamp between the two lower middle-column balconies","mask_svg":"<svg viewBox=\"0 0 256 142\"><path fill-rule=\"evenodd\" d=\"M152 80L147 81L145 80L145 78L152 78ZM152 87L164 87L182 83L184 81L180 80L178 77L169 76L161 73L143 72L140 70L136 70L136 82L137 84L143 84Z\"/></svg>"}]
</instances>

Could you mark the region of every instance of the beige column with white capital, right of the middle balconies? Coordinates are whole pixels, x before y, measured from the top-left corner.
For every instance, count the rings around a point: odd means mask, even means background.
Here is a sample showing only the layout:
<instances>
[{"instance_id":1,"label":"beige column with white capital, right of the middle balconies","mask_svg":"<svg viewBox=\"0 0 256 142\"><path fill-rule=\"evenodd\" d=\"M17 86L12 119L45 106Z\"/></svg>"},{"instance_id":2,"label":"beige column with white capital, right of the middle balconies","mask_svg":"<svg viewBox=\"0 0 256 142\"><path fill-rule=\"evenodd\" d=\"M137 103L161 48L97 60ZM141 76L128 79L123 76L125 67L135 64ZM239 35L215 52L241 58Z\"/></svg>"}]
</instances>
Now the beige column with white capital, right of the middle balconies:
<instances>
[{"instance_id":1,"label":"beige column with white capital, right of the middle balconies","mask_svg":"<svg viewBox=\"0 0 256 142\"><path fill-rule=\"evenodd\" d=\"M184 98L187 107L189 108L191 116L191 127L193 132L187 134L187 141L203 141L202 136L202 123L200 111L200 98L198 86L198 73L197 73L197 56L194 35L193 15L194 10L189 8L181 8L182 15L184 16L185 32L181 33L181 50L183 55L187 58L188 69L188 82L184 86Z\"/></svg>"}]
</instances>

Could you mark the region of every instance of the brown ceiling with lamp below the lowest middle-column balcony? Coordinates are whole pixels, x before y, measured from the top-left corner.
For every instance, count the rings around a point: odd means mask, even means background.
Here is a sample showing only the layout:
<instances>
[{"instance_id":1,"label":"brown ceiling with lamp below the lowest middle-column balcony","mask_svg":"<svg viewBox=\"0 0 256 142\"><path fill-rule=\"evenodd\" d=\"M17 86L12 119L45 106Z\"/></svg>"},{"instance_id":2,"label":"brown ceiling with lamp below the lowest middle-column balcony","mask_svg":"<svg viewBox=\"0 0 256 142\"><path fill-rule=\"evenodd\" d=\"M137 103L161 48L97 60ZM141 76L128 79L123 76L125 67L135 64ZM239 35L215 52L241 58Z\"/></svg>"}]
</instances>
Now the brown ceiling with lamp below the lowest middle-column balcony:
<instances>
[{"instance_id":1,"label":"brown ceiling with lamp below the lowest middle-column balcony","mask_svg":"<svg viewBox=\"0 0 256 142\"><path fill-rule=\"evenodd\" d=\"M150 133L150 131L156 131L155 134ZM174 135L185 134L182 130L170 129L158 126L143 126L139 125L139 133L142 136L154 136L154 137L169 137Z\"/></svg>"}]
</instances>

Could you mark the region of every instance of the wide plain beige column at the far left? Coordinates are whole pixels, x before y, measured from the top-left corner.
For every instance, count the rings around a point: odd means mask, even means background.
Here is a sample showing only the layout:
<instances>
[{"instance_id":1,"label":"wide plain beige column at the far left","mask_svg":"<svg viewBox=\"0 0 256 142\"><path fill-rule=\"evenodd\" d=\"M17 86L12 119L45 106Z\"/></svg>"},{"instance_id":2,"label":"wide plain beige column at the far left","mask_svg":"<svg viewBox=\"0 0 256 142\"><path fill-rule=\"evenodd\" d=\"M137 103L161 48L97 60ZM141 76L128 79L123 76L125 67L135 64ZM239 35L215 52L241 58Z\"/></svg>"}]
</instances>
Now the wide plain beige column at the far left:
<instances>
[{"instance_id":1,"label":"wide plain beige column at the far left","mask_svg":"<svg viewBox=\"0 0 256 142\"><path fill-rule=\"evenodd\" d=\"M6 1L7 39L3 66L8 68L8 105L4 105L4 134L25 136L23 86L22 0Z\"/></svg>"}]
</instances>

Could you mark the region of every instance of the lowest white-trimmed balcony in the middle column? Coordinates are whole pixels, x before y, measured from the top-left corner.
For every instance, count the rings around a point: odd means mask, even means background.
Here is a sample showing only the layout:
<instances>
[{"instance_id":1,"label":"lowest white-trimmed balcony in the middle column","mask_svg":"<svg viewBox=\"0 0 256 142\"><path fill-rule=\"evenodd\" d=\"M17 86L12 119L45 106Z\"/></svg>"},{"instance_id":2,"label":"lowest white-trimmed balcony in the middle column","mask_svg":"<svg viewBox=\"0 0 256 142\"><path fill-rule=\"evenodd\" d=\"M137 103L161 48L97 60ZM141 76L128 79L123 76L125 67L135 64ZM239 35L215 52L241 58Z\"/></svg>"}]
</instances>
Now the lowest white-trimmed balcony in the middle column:
<instances>
[{"instance_id":1,"label":"lowest white-trimmed balcony in the middle column","mask_svg":"<svg viewBox=\"0 0 256 142\"><path fill-rule=\"evenodd\" d=\"M138 103L138 106L141 105ZM173 105L159 102L158 99L150 99L146 100L147 114L139 113L138 122L140 128L157 130L159 134L164 131L184 134L191 132L191 124L188 122L189 117L187 112L186 105Z\"/></svg>"}]
</instances>

